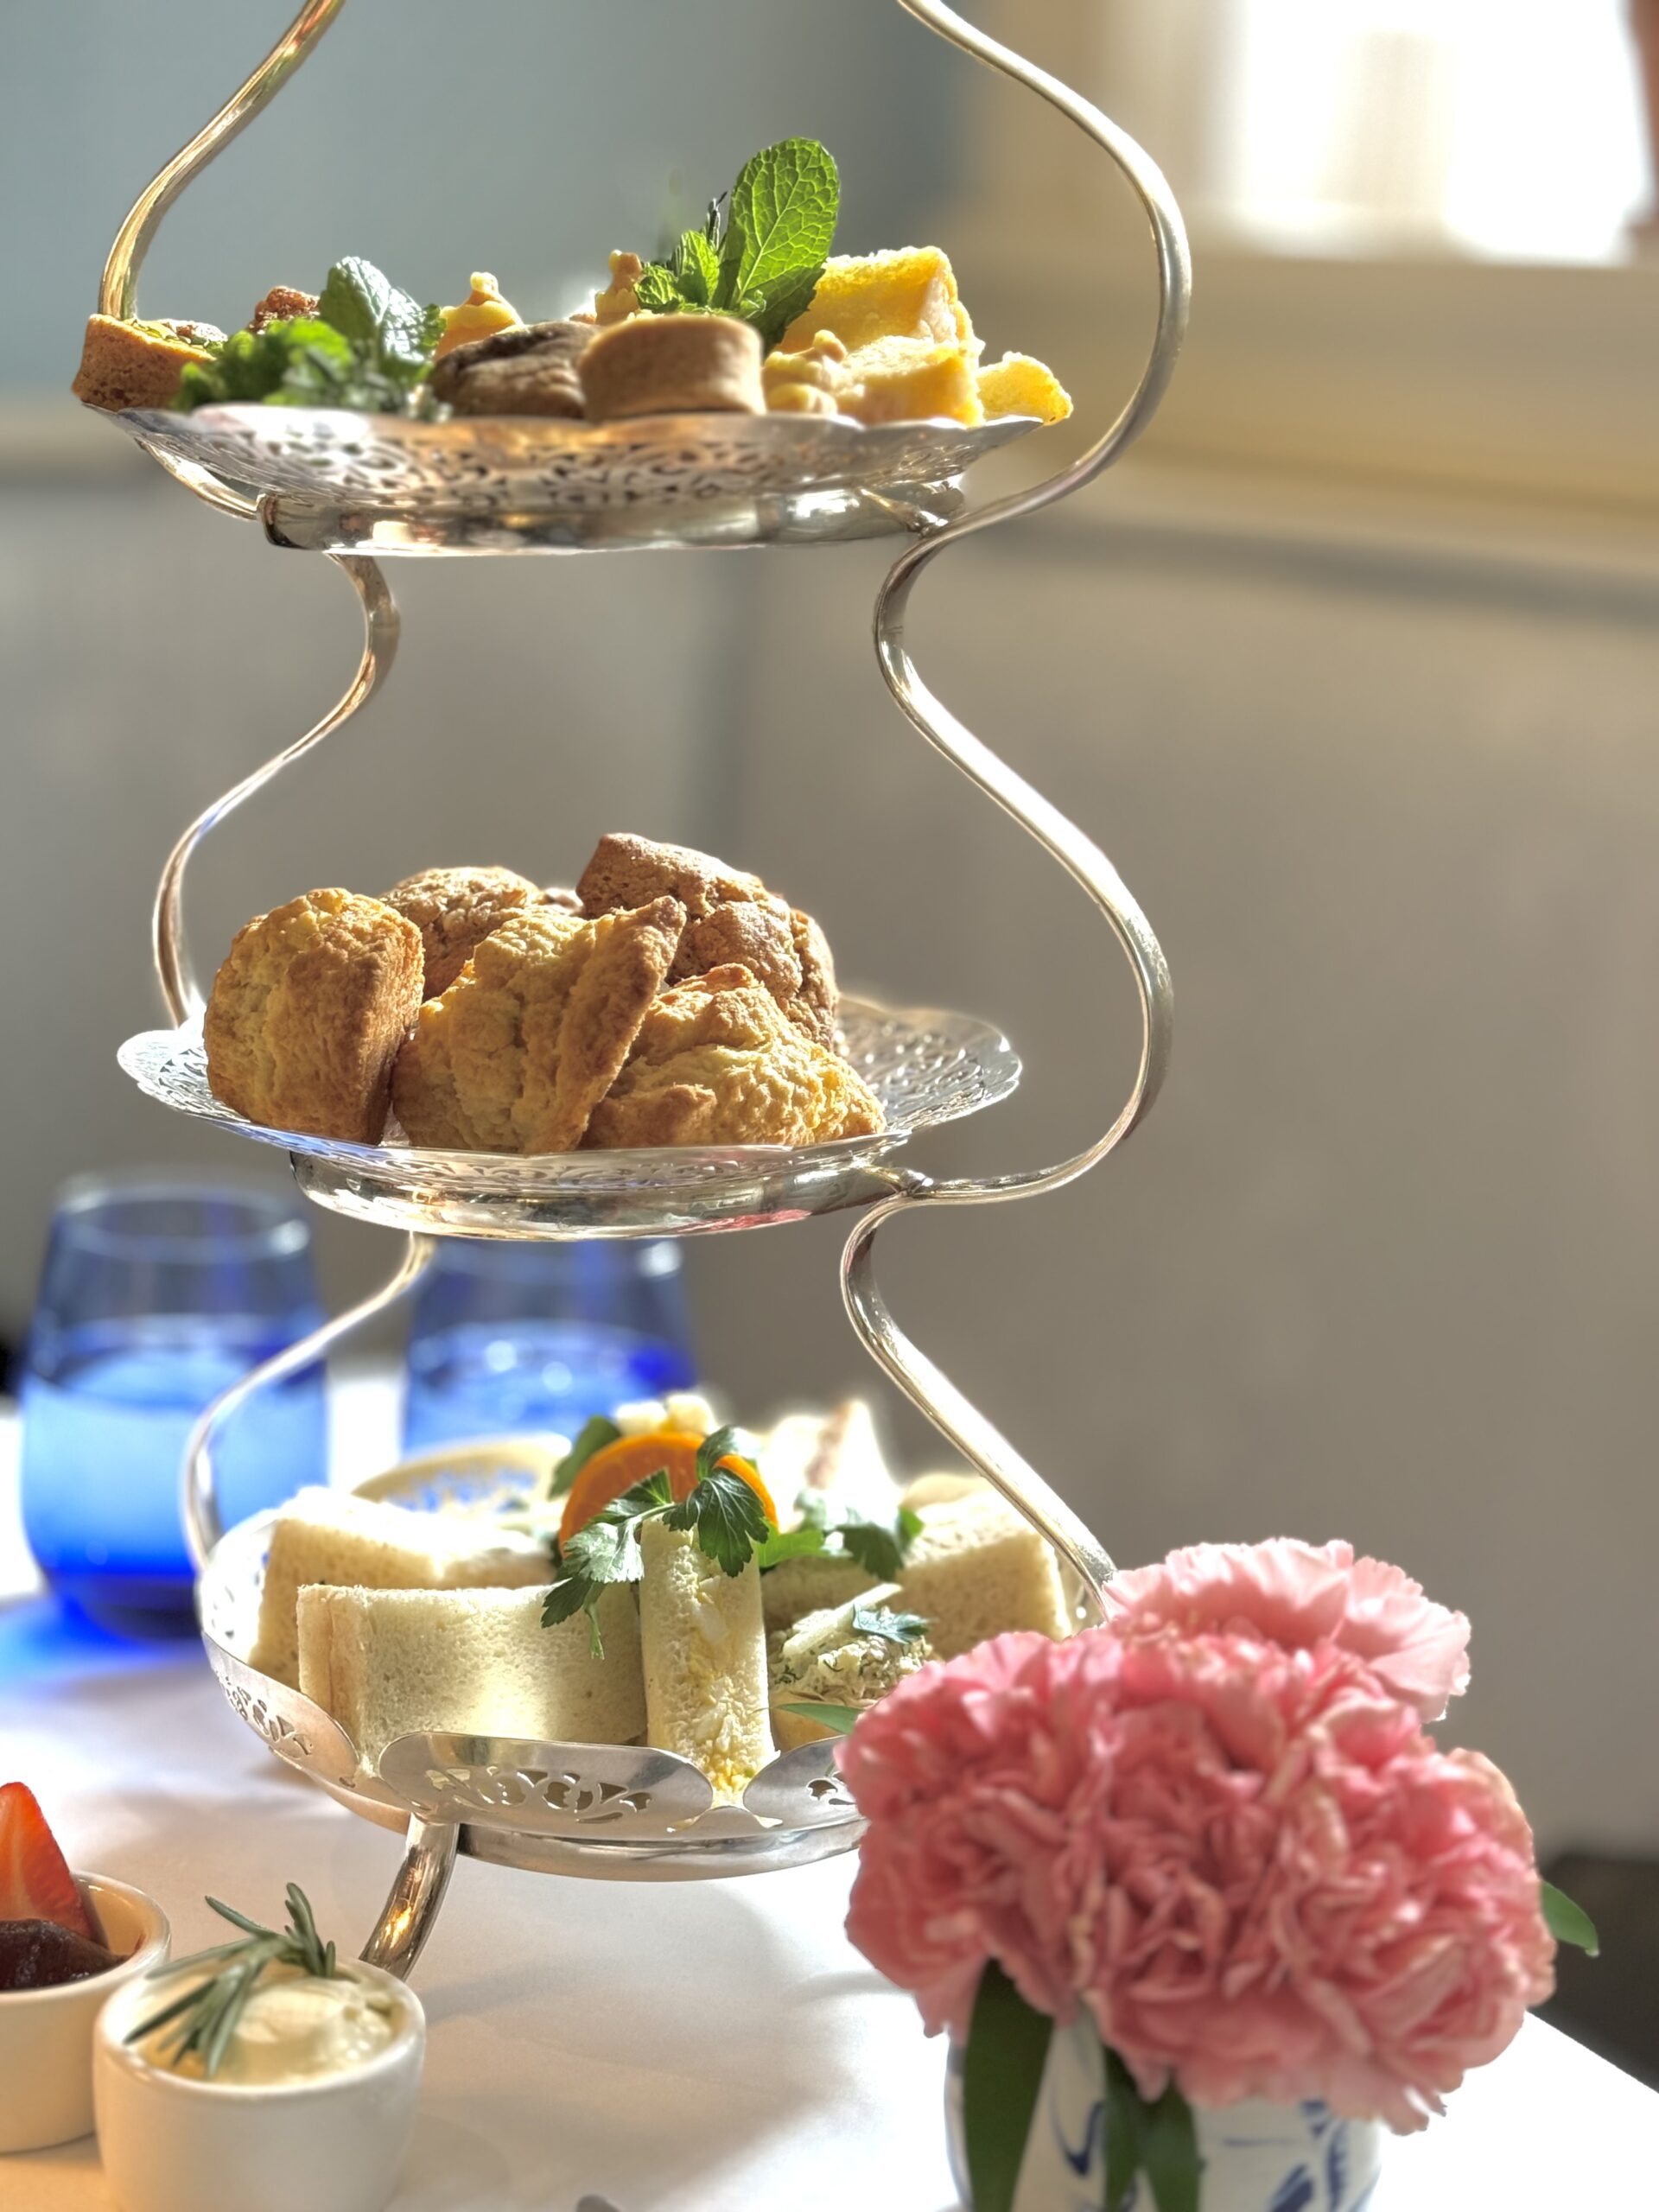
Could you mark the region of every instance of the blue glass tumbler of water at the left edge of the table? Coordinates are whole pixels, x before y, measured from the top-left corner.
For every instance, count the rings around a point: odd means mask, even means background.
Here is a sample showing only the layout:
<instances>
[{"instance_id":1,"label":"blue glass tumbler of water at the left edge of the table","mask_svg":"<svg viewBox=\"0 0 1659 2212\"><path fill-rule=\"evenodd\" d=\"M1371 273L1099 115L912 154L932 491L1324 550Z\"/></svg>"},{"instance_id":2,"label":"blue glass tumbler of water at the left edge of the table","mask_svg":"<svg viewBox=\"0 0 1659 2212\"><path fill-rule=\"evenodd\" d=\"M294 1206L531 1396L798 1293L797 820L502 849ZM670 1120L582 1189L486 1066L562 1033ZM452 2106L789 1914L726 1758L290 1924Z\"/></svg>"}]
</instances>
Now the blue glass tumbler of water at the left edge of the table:
<instances>
[{"instance_id":1,"label":"blue glass tumbler of water at the left edge of the table","mask_svg":"<svg viewBox=\"0 0 1659 2212\"><path fill-rule=\"evenodd\" d=\"M22 1524L71 1604L126 1624L190 1610L179 1467L221 1389L323 1321L299 1203L254 1186L80 1177L51 1225L22 1360ZM226 1526L327 1480L323 1369L215 1442Z\"/></svg>"}]
</instances>

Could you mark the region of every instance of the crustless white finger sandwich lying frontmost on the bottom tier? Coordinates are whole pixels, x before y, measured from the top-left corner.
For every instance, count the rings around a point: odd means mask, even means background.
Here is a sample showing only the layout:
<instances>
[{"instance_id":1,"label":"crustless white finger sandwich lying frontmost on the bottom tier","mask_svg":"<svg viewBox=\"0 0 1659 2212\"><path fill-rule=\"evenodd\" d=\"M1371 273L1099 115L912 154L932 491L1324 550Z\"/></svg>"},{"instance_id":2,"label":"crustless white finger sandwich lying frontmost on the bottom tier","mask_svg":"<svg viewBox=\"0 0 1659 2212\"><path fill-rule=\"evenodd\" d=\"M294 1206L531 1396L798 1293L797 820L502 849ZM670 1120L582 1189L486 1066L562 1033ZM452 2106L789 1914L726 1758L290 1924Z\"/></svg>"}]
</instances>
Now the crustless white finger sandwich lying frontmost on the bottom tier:
<instances>
[{"instance_id":1,"label":"crustless white finger sandwich lying frontmost on the bottom tier","mask_svg":"<svg viewBox=\"0 0 1659 2212\"><path fill-rule=\"evenodd\" d=\"M599 1597L604 1657L586 1615L542 1628L538 1590L299 1593L299 1686L365 1765L396 1736L456 1730L535 1743L628 1743L646 1725L633 1590Z\"/></svg>"}]
</instances>

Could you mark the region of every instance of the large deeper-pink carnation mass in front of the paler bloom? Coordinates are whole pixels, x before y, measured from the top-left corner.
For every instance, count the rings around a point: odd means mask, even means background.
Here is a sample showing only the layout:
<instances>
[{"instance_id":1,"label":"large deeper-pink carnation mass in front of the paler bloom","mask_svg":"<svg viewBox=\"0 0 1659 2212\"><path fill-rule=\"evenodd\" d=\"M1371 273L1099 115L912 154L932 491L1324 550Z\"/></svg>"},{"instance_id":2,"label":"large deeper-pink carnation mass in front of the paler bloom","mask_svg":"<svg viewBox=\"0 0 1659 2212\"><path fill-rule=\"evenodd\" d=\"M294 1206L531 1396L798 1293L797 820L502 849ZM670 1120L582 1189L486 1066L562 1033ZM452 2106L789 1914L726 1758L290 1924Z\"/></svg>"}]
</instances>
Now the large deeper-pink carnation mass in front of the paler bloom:
<instances>
[{"instance_id":1,"label":"large deeper-pink carnation mass in front of the paler bloom","mask_svg":"<svg viewBox=\"0 0 1659 2212\"><path fill-rule=\"evenodd\" d=\"M874 1708L843 1745L869 1820L847 1931L929 2031L964 2033L998 1960L1040 2011L1086 2006L1148 2097L1413 2128L1553 1986L1531 1832L1495 1767L1307 1630L1274 1551L1243 1588L1283 1641L1006 1635Z\"/></svg>"}]
</instances>

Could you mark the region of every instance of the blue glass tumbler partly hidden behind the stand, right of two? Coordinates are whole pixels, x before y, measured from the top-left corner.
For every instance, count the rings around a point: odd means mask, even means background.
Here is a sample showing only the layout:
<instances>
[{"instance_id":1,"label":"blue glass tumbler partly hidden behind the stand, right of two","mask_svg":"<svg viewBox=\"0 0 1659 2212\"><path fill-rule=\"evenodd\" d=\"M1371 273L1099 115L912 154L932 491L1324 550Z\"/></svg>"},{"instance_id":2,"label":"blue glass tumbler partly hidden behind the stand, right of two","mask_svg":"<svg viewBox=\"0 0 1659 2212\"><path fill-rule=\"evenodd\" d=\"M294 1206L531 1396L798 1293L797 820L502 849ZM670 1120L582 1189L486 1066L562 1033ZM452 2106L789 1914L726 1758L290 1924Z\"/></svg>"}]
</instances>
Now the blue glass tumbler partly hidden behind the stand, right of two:
<instances>
[{"instance_id":1,"label":"blue glass tumbler partly hidden behind the stand, right of two","mask_svg":"<svg viewBox=\"0 0 1659 2212\"><path fill-rule=\"evenodd\" d=\"M695 1380L677 1243L449 1237L409 1323L403 1447L575 1436L588 1413Z\"/></svg>"}]
</instances>

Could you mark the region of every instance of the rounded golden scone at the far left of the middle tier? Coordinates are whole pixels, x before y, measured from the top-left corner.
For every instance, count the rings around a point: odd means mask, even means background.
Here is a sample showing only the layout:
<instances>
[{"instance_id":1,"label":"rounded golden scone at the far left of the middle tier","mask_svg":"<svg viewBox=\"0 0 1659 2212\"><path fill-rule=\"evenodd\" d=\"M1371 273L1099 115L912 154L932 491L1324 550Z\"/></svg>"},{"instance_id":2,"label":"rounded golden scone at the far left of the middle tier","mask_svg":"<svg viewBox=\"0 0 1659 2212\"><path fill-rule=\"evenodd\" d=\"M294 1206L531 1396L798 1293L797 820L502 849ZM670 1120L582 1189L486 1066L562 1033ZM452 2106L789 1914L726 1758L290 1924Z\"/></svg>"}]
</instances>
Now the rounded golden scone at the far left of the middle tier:
<instances>
[{"instance_id":1,"label":"rounded golden scone at the far left of the middle tier","mask_svg":"<svg viewBox=\"0 0 1659 2212\"><path fill-rule=\"evenodd\" d=\"M420 1011L420 931L378 898L305 891L246 922L201 1024L208 1088L268 1128L378 1144Z\"/></svg>"}]
</instances>

